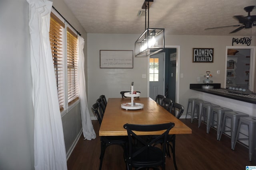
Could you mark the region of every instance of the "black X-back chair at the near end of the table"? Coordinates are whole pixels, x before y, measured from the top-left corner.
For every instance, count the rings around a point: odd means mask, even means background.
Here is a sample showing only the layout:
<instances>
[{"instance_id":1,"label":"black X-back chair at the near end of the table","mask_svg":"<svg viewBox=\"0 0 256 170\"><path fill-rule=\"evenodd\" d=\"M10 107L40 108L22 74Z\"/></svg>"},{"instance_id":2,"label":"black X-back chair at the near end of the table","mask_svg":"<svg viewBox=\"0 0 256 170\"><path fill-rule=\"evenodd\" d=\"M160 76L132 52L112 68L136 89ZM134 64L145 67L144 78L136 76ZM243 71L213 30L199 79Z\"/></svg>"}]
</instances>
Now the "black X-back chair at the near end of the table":
<instances>
[{"instance_id":1,"label":"black X-back chair at the near end of the table","mask_svg":"<svg viewBox=\"0 0 256 170\"><path fill-rule=\"evenodd\" d=\"M167 142L167 137L170 129L174 127L174 123L164 123L157 125L134 125L126 123L124 128L128 134L128 148L124 152L126 161L126 169L132 170L140 168L157 168L162 166L162 170L165 170L165 155L166 147L155 147L154 143L159 139L164 139L164 146ZM162 131L165 130L161 135L157 135L154 140L148 141L146 138L137 135L139 131ZM135 143L136 141L136 143ZM158 168L157 168L158 169Z\"/></svg>"}]
</instances>

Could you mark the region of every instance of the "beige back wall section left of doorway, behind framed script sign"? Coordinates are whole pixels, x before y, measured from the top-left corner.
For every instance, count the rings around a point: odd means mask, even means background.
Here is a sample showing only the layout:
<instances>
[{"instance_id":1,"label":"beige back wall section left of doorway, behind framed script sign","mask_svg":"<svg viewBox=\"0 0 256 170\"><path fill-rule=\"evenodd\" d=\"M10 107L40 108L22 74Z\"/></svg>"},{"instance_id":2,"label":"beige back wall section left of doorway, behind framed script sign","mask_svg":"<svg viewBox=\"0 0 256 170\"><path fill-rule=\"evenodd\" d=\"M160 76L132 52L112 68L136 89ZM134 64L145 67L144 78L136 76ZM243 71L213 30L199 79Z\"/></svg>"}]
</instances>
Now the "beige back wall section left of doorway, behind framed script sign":
<instances>
[{"instance_id":1,"label":"beige back wall section left of doorway, behind framed script sign","mask_svg":"<svg viewBox=\"0 0 256 170\"><path fill-rule=\"evenodd\" d=\"M148 58L133 58L133 68L100 68L100 50L134 50L134 42L139 35L134 34L94 34L88 33L88 107L100 95L106 98L121 97L120 91L129 91L134 82L134 90L147 97ZM91 109L89 109L91 111ZM91 113L91 116L94 116Z\"/></svg>"}]
</instances>

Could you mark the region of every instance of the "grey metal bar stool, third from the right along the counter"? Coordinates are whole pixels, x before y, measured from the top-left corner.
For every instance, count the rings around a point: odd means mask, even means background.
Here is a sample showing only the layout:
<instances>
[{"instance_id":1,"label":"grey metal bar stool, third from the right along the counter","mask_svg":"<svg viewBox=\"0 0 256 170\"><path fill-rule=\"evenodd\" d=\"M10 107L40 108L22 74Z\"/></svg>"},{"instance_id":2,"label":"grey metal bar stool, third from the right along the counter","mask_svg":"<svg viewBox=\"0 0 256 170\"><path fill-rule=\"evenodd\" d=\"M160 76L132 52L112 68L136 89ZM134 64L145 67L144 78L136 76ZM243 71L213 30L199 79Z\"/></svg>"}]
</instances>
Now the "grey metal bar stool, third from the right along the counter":
<instances>
[{"instance_id":1,"label":"grey metal bar stool, third from the right along the counter","mask_svg":"<svg viewBox=\"0 0 256 170\"><path fill-rule=\"evenodd\" d=\"M221 125L222 125L222 120L223 120L223 116L225 111L233 111L232 109L226 108L226 107L214 107L212 108L212 113L210 116L210 123L209 126L206 127L206 133L209 133L210 131L210 127L211 126L217 126L217 140L220 138L220 129L221 129ZM214 114L217 114L217 124L216 125L212 125L212 123L214 122Z\"/></svg>"}]
</instances>

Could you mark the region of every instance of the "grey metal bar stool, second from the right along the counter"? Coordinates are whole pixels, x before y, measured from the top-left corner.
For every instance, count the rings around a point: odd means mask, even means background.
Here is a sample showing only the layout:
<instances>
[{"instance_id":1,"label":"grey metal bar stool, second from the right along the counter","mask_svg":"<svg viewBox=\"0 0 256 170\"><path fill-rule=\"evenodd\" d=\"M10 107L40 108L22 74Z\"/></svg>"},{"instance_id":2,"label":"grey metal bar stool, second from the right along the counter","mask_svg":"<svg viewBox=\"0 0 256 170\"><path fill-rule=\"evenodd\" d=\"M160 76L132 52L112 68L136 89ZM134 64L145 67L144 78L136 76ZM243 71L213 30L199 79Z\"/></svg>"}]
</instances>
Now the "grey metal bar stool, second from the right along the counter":
<instances>
[{"instance_id":1,"label":"grey metal bar stool, second from the right along the counter","mask_svg":"<svg viewBox=\"0 0 256 170\"><path fill-rule=\"evenodd\" d=\"M231 148L234 148L235 138L236 138L236 131L238 127L238 123L240 120L240 117L249 117L248 114L242 113L240 111L226 111L224 113L223 122L222 122L222 128L220 131L220 138L223 132L230 132L230 138L231 138ZM225 130L226 126L226 119L230 119L230 131ZM219 141L220 141L219 138Z\"/></svg>"}]
</instances>

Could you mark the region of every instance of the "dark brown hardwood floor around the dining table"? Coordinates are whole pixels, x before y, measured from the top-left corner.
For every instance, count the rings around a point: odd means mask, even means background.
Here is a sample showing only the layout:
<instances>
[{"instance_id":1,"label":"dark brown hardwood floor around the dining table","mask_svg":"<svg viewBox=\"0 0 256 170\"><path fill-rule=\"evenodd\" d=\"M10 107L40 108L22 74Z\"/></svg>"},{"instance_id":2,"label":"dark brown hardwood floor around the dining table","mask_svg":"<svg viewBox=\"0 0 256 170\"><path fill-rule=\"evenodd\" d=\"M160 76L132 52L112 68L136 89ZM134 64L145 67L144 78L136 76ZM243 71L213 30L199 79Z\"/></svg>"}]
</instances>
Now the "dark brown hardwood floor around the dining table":
<instances>
[{"instance_id":1,"label":"dark brown hardwood floor around the dining table","mask_svg":"<svg viewBox=\"0 0 256 170\"><path fill-rule=\"evenodd\" d=\"M179 170L245 170L245 166L256 165L256 155L249 161L248 149L237 143L235 150L231 149L230 138L222 135L221 141L216 139L216 130L206 133L206 125L198 121L190 123L189 119L180 119L192 129L192 134L176 135L176 163ZM98 170L100 164L99 124L92 121L96 139L83 140L80 137L74 151L67 161L68 170ZM122 147L112 145L107 147L102 170L125 170ZM166 158L166 170L173 170L172 158Z\"/></svg>"}]
</instances>

